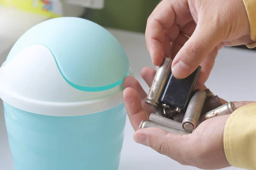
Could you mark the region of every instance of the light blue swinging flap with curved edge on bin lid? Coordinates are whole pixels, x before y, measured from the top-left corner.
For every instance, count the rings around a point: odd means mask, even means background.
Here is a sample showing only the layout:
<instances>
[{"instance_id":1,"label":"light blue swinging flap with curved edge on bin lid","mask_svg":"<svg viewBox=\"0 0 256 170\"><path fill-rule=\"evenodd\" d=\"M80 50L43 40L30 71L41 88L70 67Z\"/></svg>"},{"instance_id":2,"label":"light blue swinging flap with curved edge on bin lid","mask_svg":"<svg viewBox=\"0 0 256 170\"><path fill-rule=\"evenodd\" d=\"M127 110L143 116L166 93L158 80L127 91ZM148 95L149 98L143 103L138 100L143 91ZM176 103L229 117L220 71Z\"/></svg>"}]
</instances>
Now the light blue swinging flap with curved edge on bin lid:
<instances>
[{"instance_id":1,"label":"light blue swinging flap with curved edge on bin lid","mask_svg":"<svg viewBox=\"0 0 256 170\"><path fill-rule=\"evenodd\" d=\"M114 88L129 73L122 45L105 28L89 20L60 17L39 23L17 40L4 65L35 44L51 51L61 75L81 91Z\"/></svg>"}]
</instances>

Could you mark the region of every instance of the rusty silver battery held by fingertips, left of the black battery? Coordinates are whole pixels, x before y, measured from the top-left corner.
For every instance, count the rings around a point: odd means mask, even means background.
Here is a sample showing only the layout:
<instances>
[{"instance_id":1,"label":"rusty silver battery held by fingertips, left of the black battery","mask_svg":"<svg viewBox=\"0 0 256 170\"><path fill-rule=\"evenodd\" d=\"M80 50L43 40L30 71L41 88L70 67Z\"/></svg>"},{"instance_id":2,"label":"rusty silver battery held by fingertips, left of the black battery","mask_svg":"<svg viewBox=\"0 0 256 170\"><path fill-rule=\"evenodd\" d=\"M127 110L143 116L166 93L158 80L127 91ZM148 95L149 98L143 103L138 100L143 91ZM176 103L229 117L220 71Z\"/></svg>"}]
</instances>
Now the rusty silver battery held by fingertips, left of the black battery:
<instances>
[{"instance_id":1,"label":"rusty silver battery held by fingertips, left of the black battery","mask_svg":"<svg viewBox=\"0 0 256 170\"><path fill-rule=\"evenodd\" d=\"M172 69L172 59L164 58L162 64L158 67L152 85L148 91L145 103L153 107L159 105L160 97L165 86L166 80Z\"/></svg>"}]
</instances>

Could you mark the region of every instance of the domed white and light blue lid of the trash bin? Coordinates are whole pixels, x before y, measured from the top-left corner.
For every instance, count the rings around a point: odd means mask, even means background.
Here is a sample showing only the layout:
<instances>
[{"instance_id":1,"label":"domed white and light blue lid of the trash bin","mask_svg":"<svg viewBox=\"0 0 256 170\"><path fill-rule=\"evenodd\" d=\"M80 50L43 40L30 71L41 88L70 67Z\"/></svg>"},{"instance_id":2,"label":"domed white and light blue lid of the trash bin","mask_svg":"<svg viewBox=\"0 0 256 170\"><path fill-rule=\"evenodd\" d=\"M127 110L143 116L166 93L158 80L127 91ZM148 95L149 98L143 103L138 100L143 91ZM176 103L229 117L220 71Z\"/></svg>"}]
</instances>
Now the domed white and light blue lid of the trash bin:
<instances>
[{"instance_id":1,"label":"domed white and light blue lid of the trash bin","mask_svg":"<svg viewBox=\"0 0 256 170\"><path fill-rule=\"evenodd\" d=\"M29 29L0 68L0 97L24 111L72 116L123 102L130 75L121 44L89 20L60 17Z\"/></svg>"}]
</instances>

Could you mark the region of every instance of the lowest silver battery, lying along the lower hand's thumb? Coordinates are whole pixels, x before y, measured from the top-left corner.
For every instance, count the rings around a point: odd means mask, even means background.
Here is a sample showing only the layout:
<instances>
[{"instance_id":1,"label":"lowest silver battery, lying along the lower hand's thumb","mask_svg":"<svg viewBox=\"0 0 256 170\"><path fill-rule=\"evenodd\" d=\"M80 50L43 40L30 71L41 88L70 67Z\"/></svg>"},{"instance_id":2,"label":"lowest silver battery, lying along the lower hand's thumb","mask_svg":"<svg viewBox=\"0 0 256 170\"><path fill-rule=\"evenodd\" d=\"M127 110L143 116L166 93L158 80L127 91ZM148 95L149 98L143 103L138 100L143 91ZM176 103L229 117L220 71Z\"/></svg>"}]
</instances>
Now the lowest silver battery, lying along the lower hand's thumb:
<instances>
[{"instance_id":1,"label":"lowest silver battery, lying along the lower hand's thumb","mask_svg":"<svg viewBox=\"0 0 256 170\"><path fill-rule=\"evenodd\" d=\"M140 129L147 128L147 127L157 127L159 129L165 130L168 133L177 133L177 134L180 134L180 135L190 134L190 132L187 132L185 130L178 130L178 129L175 129L175 128L172 128L172 127L166 127L166 126L154 123L154 122L149 122L149 121L144 121L144 120L142 122L140 122L140 126L139 126Z\"/></svg>"}]
</instances>

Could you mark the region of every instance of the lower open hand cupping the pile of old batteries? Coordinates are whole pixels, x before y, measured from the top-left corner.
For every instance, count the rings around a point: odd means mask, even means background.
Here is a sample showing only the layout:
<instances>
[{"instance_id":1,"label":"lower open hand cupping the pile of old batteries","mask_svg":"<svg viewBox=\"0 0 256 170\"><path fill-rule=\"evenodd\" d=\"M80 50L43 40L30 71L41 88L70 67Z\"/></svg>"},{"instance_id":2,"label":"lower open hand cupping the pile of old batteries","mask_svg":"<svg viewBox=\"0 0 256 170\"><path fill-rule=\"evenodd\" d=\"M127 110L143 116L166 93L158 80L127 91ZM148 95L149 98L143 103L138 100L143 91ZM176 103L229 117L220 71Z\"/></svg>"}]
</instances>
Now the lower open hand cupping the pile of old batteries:
<instances>
[{"instance_id":1,"label":"lower open hand cupping the pile of old batteries","mask_svg":"<svg viewBox=\"0 0 256 170\"><path fill-rule=\"evenodd\" d=\"M141 71L141 76L149 87L155 74L156 71L152 68L143 68ZM167 133L155 127L138 129L142 120L148 120L153 108L145 104L147 94L136 79L126 77L123 86L125 108L135 130L135 142L151 147L183 165L209 170L230 166L223 144L224 127L230 115L208 119L202 122L192 134L183 136ZM204 90L206 86L203 85L200 88ZM222 99L221 102L224 104L227 101ZM250 103L253 102L234 102L237 108Z\"/></svg>"}]
</instances>

